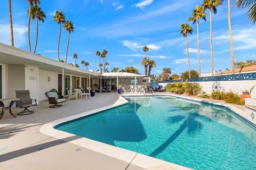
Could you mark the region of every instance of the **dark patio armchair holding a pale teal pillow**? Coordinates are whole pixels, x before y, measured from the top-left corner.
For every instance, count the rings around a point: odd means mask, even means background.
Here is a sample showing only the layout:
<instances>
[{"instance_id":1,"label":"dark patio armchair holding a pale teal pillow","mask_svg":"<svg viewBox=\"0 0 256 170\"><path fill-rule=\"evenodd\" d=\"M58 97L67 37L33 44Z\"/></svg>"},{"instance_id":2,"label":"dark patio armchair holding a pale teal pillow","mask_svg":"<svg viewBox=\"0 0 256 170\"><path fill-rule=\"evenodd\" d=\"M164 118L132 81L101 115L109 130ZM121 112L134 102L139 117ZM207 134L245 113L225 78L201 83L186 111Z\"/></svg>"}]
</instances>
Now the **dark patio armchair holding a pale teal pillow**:
<instances>
[{"instance_id":1,"label":"dark patio armchair holding a pale teal pillow","mask_svg":"<svg viewBox=\"0 0 256 170\"><path fill-rule=\"evenodd\" d=\"M51 106L49 106L50 108L54 108L54 107L61 107L66 99L64 98L64 96L58 96L57 92L55 91L48 91L44 93L45 96L48 98L49 104Z\"/></svg>"}]
</instances>

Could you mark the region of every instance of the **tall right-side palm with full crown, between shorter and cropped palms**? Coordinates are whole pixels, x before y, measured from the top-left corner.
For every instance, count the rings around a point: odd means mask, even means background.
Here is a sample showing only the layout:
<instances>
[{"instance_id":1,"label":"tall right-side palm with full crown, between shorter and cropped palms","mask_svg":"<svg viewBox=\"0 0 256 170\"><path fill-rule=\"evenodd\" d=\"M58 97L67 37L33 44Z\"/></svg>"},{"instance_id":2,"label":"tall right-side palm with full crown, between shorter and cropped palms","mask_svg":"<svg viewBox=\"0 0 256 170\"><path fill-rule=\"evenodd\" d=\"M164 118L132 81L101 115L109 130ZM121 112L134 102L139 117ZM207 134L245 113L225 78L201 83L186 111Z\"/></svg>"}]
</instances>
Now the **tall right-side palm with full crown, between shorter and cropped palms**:
<instances>
[{"instance_id":1,"label":"tall right-side palm with full crown, between shorter and cropped palms","mask_svg":"<svg viewBox=\"0 0 256 170\"><path fill-rule=\"evenodd\" d=\"M200 64L200 48L199 48L199 19L203 19L206 21L205 18L205 10L203 7L199 7L198 5L194 10L192 10L192 16L188 19L188 21L193 21L193 24L197 23L197 51L198 51L198 72L199 77L201 77L201 64Z\"/></svg>"}]
</instances>

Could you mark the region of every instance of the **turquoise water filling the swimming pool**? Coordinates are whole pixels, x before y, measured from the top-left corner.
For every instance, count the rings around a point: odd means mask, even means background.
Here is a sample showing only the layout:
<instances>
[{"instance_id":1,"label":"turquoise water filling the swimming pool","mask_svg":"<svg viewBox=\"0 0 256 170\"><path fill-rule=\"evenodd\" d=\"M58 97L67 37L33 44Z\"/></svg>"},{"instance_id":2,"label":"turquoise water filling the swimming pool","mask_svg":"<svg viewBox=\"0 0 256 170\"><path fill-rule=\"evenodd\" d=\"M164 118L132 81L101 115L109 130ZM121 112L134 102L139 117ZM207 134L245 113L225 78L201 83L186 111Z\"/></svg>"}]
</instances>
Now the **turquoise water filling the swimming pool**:
<instances>
[{"instance_id":1,"label":"turquoise water filling the swimming pool","mask_svg":"<svg viewBox=\"0 0 256 170\"><path fill-rule=\"evenodd\" d=\"M230 111L172 97L129 104L55 128L194 169L256 169L256 131Z\"/></svg>"}]
</instances>

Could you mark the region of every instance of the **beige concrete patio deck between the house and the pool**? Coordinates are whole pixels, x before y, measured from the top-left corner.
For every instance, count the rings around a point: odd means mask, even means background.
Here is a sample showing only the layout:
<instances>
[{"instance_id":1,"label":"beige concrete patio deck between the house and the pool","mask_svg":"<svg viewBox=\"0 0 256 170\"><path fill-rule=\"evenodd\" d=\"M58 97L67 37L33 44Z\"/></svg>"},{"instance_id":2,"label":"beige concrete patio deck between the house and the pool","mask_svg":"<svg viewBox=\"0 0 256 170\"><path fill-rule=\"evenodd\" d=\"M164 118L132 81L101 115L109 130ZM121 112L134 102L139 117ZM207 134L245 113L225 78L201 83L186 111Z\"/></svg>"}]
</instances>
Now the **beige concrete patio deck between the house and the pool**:
<instances>
[{"instance_id":1,"label":"beige concrete patio deck between the house and the pool","mask_svg":"<svg viewBox=\"0 0 256 170\"><path fill-rule=\"evenodd\" d=\"M60 108L49 108L47 101L42 101L31 108L35 114L17 118L6 111L0 120L0 169L182 169L161 160L151 163L151 158L127 150L127 155L122 155L123 160L117 159L71 143L81 137L55 138L39 131L44 124L54 120L121 104L124 101L119 96L115 93L97 94L89 100L67 101ZM141 162L142 159L145 161Z\"/></svg>"}]
</instances>

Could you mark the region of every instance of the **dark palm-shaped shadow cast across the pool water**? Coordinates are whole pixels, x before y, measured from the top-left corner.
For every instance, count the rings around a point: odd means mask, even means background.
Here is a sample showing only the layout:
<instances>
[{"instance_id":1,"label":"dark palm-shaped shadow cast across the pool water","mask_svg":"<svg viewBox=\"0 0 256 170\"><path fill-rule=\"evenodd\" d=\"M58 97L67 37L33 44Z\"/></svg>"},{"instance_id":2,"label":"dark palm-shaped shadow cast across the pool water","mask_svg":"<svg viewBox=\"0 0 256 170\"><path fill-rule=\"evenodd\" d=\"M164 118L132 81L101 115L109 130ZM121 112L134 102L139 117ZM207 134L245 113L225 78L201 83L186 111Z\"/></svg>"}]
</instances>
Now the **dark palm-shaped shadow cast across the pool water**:
<instances>
[{"instance_id":1,"label":"dark palm-shaped shadow cast across the pool water","mask_svg":"<svg viewBox=\"0 0 256 170\"><path fill-rule=\"evenodd\" d=\"M175 131L171 137L169 137L161 146L155 149L149 156L156 157L162 151L164 151L179 135L188 128L188 132L193 132L196 129L201 129L202 124L197 122L196 118L199 116L197 113L189 113L188 117L177 115L169 117L169 123L179 123L183 120L183 123L180 125L180 128Z\"/></svg>"}]
</instances>

